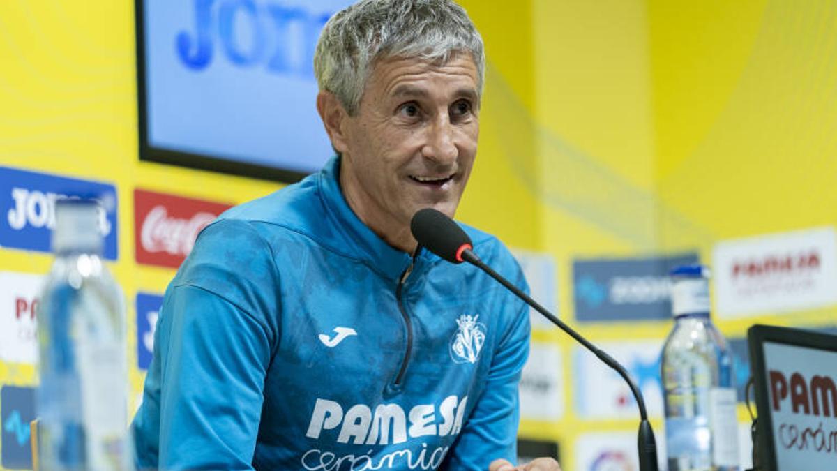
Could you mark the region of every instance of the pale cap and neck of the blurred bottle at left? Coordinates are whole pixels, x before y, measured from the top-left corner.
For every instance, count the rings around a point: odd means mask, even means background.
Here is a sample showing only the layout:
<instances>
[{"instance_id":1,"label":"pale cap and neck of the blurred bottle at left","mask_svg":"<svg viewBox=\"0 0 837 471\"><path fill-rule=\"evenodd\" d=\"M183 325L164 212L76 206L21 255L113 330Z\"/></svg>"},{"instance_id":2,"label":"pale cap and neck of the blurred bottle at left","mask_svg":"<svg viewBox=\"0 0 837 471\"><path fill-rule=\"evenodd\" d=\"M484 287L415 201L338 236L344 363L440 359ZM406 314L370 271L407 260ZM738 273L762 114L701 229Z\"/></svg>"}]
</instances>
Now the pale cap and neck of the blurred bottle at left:
<instances>
[{"instance_id":1,"label":"pale cap and neck of the blurred bottle at left","mask_svg":"<svg viewBox=\"0 0 837 471\"><path fill-rule=\"evenodd\" d=\"M99 215L100 206L95 199L67 198L55 201L53 250L101 251Z\"/></svg>"}]
</instances>

